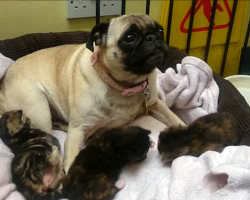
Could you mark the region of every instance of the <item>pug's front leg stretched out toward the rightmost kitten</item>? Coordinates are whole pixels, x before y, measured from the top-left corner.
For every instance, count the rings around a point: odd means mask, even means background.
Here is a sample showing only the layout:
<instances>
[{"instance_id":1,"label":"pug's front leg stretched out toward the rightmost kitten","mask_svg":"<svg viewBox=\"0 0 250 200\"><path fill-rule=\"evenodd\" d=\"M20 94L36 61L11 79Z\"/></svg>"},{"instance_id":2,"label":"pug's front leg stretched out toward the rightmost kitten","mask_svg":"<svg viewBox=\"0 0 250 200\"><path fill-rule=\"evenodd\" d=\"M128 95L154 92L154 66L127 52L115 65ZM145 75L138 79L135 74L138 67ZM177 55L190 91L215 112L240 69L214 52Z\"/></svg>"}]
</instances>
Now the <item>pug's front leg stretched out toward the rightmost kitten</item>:
<instances>
[{"instance_id":1,"label":"pug's front leg stretched out toward the rightmost kitten","mask_svg":"<svg viewBox=\"0 0 250 200\"><path fill-rule=\"evenodd\" d=\"M177 115L175 115L162 100L158 98L156 102L150 106L149 114L164 123L166 126L186 126L186 124Z\"/></svg>"}]
</instances>

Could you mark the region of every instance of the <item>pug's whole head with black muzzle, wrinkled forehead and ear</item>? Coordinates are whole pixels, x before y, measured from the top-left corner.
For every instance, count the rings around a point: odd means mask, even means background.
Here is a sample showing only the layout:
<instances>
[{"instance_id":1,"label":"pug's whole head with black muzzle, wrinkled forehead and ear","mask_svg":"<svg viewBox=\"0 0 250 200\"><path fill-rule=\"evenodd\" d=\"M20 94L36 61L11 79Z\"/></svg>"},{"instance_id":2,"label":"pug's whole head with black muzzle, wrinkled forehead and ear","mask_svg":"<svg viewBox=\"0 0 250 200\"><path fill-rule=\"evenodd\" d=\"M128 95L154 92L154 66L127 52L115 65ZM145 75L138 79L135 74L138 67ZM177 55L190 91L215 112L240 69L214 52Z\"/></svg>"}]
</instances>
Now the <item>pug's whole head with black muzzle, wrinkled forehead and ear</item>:
<instances>
[{"instance_id":1,"label":"pug's whole head with black muzzle, wrinkled forehead and ear","mask_svg":"<svg viewBox=\"0 0 250 200\"><path fill-rule=\"evenodd\" d=\"M126 72L137 76L151 73L168 49L163 28L144 14L123 15L99 24L91 36L114 77Z\"/></svg>"}]
</instances>

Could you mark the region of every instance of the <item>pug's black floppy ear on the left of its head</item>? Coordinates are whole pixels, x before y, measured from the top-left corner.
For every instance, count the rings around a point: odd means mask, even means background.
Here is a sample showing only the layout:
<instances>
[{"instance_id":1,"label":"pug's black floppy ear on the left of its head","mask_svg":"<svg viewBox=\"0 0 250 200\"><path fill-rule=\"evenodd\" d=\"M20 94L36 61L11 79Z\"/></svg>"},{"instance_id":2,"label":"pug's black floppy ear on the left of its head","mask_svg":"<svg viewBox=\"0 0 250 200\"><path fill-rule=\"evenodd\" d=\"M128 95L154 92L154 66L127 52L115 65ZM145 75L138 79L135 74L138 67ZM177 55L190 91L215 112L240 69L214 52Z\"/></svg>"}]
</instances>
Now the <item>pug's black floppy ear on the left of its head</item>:
<instances>
[{"instance_id":1,"label":"pug's black floppy ear on the left of its head","mask_svg":"<svg viewBox=\"0 0 250 200\"><path fill-rule=\"evenodd\" d=\"M90 32L90 36L88 38L86 47L90 51L94 51L93 43L95 42L95 45L97 46L103 46L105 45L106 36L108 33L108 27L110 22L103 22L100 24L97 24Z\"/></svg>"}]
</instances>

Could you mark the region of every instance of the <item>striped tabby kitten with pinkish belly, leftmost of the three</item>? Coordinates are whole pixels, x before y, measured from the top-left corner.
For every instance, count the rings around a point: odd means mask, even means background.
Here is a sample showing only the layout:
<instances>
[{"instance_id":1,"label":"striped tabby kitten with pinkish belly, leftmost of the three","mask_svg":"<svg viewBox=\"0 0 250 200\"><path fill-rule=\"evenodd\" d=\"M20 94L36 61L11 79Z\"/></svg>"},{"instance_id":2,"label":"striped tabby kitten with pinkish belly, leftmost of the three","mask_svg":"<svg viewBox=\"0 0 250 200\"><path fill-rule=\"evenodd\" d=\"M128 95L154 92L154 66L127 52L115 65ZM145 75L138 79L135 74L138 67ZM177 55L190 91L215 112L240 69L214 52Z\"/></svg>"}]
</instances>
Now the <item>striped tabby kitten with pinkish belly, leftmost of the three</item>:
<instances>
[{"instance_id":1,"label":"striped tabby kitten with pinkish belly, leftmost of the three","mask_svg":"<svg viewBox=\"0 0 250 200\"><path fill-rule=\"evenodd\" d=\"M57 138L33 129L21 110L2 116L0 138L14 153L12 181L26 199L37 199L59 187L64 172Z\"/></svg>"}]
</instances>

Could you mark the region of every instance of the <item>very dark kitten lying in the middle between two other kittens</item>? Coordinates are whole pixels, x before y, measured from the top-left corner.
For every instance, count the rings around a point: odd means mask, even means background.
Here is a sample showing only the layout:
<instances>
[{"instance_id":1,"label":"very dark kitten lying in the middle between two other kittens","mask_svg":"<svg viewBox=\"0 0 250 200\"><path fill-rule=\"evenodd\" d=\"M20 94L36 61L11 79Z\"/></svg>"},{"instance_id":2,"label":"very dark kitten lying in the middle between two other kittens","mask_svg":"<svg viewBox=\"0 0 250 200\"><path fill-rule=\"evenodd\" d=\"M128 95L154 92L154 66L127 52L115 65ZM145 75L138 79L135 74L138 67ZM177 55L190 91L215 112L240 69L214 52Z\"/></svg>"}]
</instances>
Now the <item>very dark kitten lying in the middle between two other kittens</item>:
<instances>
[{"instance_id":1,"label":"very dark kitten lying in the middle between two other kittens","mask_svg":"<svg viewBox=\"0 0 250 200\"><path fill-rule=\"evenodd\" d=\"M93 134L69 169L62 196L71 200L113 199L125 184L117 182L123 167L146 158L153 145L149 134L137 126Z\"/></svg>"}]
</instances>

